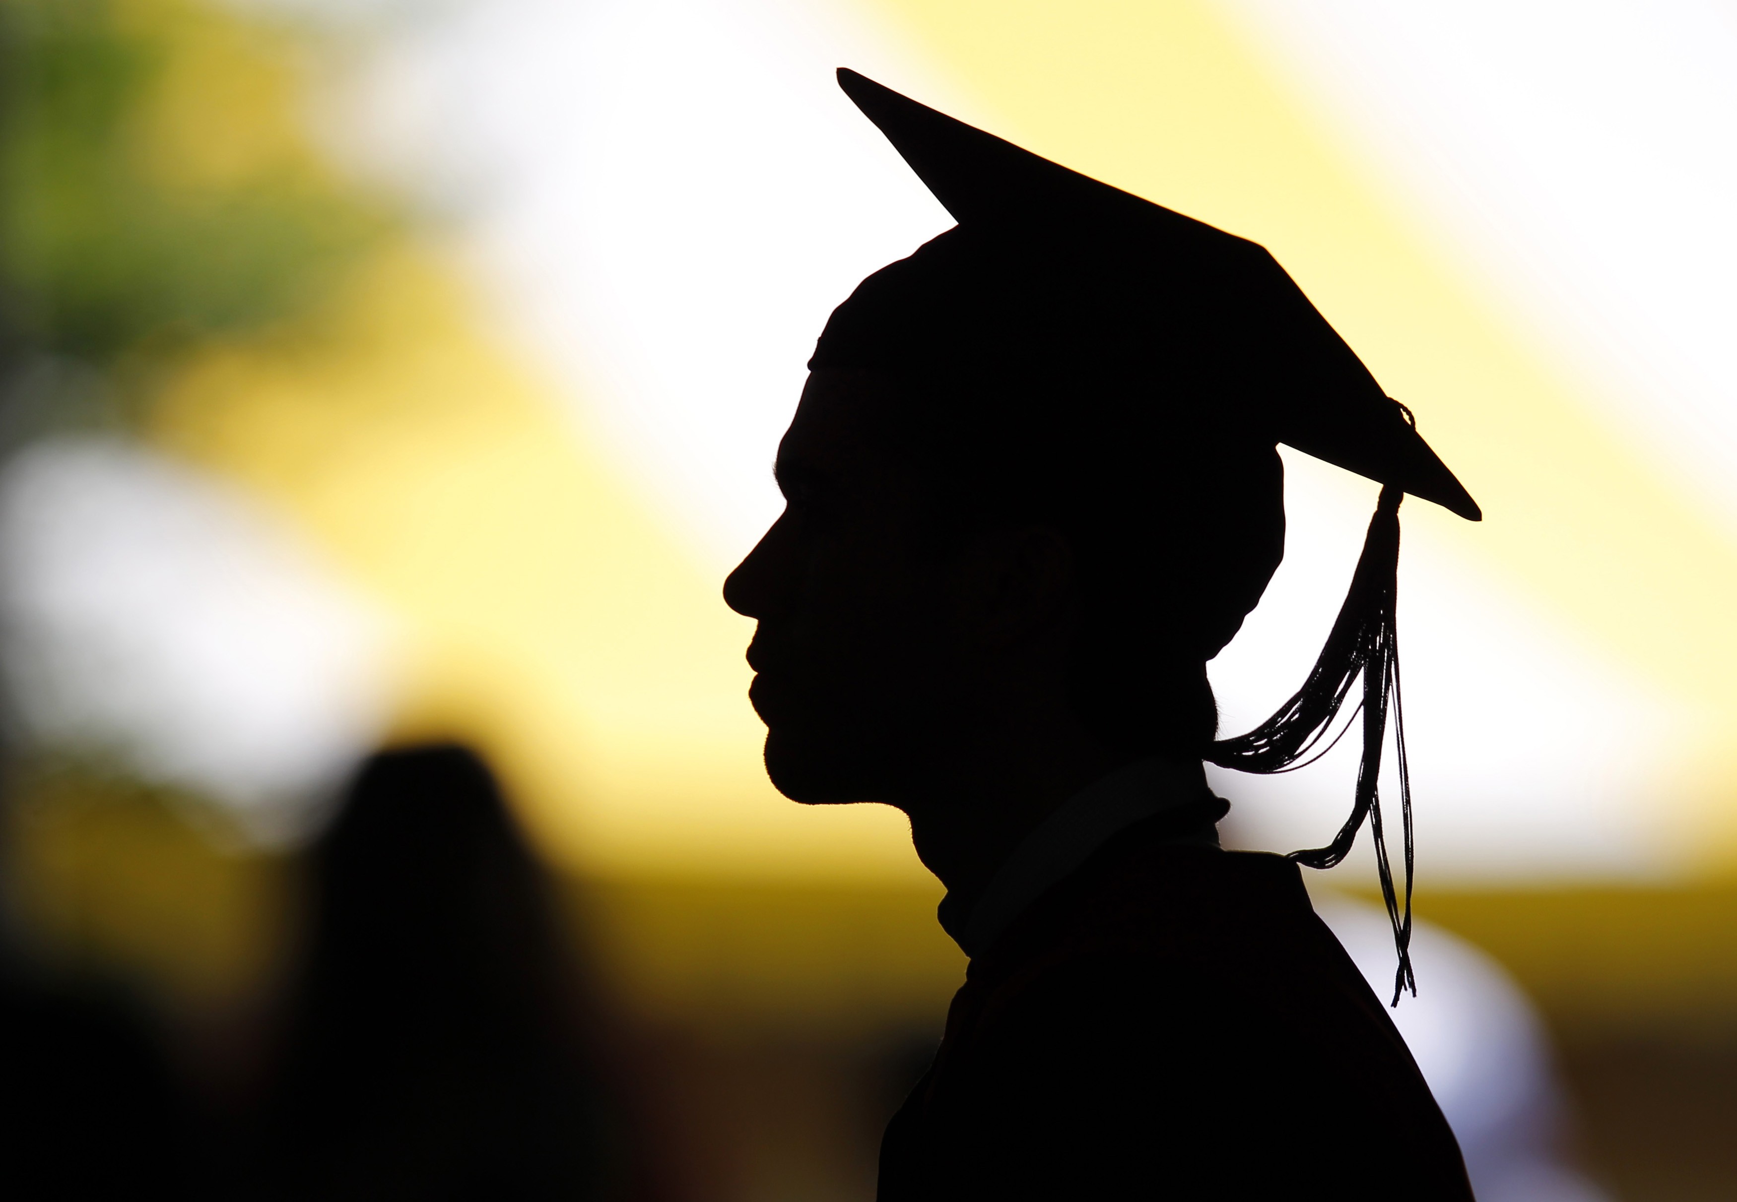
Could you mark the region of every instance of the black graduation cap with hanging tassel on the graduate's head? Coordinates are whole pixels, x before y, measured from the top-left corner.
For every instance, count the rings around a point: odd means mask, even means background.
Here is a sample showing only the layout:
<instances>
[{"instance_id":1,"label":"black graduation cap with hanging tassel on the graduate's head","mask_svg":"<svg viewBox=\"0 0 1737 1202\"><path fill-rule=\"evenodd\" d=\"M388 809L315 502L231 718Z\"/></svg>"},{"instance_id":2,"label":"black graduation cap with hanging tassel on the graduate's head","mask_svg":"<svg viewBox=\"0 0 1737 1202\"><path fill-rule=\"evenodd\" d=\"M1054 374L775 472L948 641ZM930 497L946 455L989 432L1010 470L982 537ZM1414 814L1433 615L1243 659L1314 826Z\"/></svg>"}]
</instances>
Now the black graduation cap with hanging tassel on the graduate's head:
<instances>
[{"instance_id":1,"label":"black graduation cap with hanging tassel on the graduate's head","mask_svg":"<svg viewBox=\"0 0 1737 1202\"><path fill-rule=\"evenodd\" d=\"M1211 570L1190 582L1207 599L1200 617L1183 624L1197 627L1192 646L1202 662L1235 634L1282 558L1275 445L1381 483L1351 589L1308 681L1256 730L1214 742L1207 759L1256 773L1298 766L1322 749L1362 681L1364 756L1351 815L1331 844L1292 858L1331 867L1369 820L1400 952L1395 1002L1402 988L1416 992L1407 952L1410 783L1395 637L1398 504L1410 493L1476 521L1476 502L1417 434L1410 412L1386 396L1263 247L1032 155L855 71L841 69L839 85L959 224L858 285L834 311L809 365L1001 380L1004 387L987 391L1009 408L1011 398L1027 398L1037 410L1025 419L1034 429L1089 431L1089 455L1079 439L1056 452L1094 460L1084 472L1063 474L1077 486L1096 486L1086 483L1093 474L1145 474L1159 481L1153 486L1179 476L1197 493L1218 488L1207 504L1172 505L1188 516L1169 523L1188 526L1195 545L1211 549L1197 556ZM1155 443L1171 446L1171 469L1131 469ZM1115 466L1096 462L1101 455ZM1039 469L1027 464L1023 471ZM1376 789L1390 709L1403 905Z\"/></svg>"}]
</instances>

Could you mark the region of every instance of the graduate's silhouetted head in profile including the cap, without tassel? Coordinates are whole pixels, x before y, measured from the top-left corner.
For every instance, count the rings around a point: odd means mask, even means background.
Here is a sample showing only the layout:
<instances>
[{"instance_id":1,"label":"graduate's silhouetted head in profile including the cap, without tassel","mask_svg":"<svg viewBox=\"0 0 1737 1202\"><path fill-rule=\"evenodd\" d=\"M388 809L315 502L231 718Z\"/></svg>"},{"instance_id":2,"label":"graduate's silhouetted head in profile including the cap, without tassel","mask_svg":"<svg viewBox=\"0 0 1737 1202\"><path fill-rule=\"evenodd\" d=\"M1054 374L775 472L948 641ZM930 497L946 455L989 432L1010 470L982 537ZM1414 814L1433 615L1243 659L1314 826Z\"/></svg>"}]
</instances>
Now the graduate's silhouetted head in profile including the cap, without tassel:
<instances>
[{"instance_id":1,"label":"graduate's silhouetted head in profile including the cap, without tassel","mask_svg":"<svg viewBox=\"0 0 1737 1202\"><path fill-rule=\"evenodd\" d=\"M834 311L726 585L783 792L893 799L1044 723L1204 756L1205 664L1284 554L1278 443L1476 518L1265 248L839 80L959 226Z\"/></svg>"}]
</instances>

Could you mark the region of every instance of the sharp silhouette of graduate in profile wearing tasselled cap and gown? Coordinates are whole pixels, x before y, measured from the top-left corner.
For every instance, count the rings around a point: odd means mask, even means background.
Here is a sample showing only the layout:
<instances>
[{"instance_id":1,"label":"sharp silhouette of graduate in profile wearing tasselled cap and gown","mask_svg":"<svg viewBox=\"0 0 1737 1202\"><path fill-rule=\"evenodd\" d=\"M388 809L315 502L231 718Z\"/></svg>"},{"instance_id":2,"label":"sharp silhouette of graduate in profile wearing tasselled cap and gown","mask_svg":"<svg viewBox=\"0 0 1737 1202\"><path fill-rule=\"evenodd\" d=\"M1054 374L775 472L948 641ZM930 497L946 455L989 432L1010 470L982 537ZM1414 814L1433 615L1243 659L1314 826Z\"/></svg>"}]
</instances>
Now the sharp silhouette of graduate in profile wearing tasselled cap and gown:
<instances>
[{"instance_id":1,"label":"sharp silhouette of graduate in profile wearing tasselled cap and gown","mask_svg":"<svg viewBox=\"0 0 1737 1202\"><path fill-rule=\"evenodd\" d=\"M1381 835L1402 493L1476 505L1261 247L839 78L959 224L834 311L724 596L773 783L903 809L971 955L881 1197L1470 1199L1296 860ZM1278 441L1383 497L1304 688L1214 742L1205 664L1284 554ZM1221 851L1202 761L1296 763L1358 677L1339 837Z\"/></svg>"}]
</instances>

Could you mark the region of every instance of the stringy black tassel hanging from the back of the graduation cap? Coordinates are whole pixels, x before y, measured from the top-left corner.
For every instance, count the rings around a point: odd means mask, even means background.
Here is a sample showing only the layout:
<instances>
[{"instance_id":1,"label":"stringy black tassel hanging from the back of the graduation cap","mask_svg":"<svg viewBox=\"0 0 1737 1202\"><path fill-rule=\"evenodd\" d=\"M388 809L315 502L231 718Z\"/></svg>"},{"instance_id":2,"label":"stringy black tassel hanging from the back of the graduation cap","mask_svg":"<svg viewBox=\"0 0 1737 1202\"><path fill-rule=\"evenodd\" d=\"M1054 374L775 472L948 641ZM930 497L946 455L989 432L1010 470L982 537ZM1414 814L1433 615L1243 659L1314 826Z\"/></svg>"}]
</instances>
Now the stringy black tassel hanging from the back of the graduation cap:
<instances>
[{"instance_id":1,"label":"stringy black tassel hanging from the back of the graduation cap","mask_svg":"<svg viewBox=\"0 0 1737 1202\"><path fill-rule=\"evenodd\" d=\"M1351 575L1351 589L1334 618L1327 644L1315 667L1289 702L1277 714L1247 735L1212 743L1207 759L1221 768L1245 773L1294 771L1325 756L1344 736L1341 731L1318 754L1315 749L1332 728L1332 719L1351 693L1351 684L1364 677L1364 757L1357 769L1357 797L1351 816L1325 848L1292 851L1291 860L1311 868L1331 868L1344 860L1357 842L1357 832L1369 818L1376 844L1376 870L1381 875L1381 898L1393 924L1393 943L1398 948L1398 971L1393 978L1393 1006L1407 988L1416 997L1417 981L1410 966L1410 903L1412 903L1412 811L1410 773L1405 763L1405 719L1400 714L1400 653L1397 617L1398 561L1400 561L1400 500L1403 492L1388 485L1381 490L1376 516L1364 537L1364 554ZM1388 707L1393 709L1393 736L1400 773L1400 816L1405 837L1405 902L1393 888L1393 867L1388 862L1386 835L1381 827L1381 794L1376 782L1381 775L1381 747L1388 726ZM1350 730L1350 726L1346 726Z\"/></svg>"}]
</instances>

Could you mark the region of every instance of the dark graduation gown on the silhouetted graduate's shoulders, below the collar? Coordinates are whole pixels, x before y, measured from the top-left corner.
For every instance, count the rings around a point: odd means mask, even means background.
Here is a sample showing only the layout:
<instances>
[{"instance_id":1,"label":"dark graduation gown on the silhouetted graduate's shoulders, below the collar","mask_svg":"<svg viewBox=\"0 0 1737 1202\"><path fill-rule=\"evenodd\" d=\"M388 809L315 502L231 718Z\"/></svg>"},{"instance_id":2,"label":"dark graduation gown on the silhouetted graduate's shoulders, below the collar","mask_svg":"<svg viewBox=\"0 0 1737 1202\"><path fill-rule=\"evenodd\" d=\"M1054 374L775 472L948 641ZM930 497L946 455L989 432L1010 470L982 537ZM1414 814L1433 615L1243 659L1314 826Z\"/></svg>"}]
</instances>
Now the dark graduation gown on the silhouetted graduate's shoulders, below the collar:
<instances>
[{"instance_id":1,"label":"dark graduation gown on the silhouetted graduate's shoulders, below the collar","mask_svg":"<svg viewBox=\"0 0 1737 1202\"><path fill-rule=\"evenodd\" d=\"M881 1202L1470 1202L1447 1120L1298 867L1218 849L1221 813L1120 829L973 955L888 1126Z\"/></svg>"}]
</instances>

